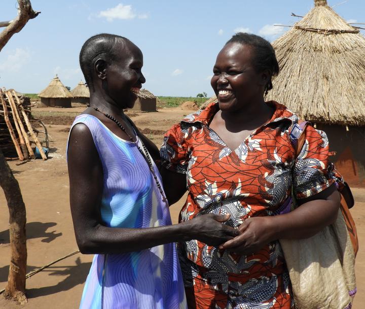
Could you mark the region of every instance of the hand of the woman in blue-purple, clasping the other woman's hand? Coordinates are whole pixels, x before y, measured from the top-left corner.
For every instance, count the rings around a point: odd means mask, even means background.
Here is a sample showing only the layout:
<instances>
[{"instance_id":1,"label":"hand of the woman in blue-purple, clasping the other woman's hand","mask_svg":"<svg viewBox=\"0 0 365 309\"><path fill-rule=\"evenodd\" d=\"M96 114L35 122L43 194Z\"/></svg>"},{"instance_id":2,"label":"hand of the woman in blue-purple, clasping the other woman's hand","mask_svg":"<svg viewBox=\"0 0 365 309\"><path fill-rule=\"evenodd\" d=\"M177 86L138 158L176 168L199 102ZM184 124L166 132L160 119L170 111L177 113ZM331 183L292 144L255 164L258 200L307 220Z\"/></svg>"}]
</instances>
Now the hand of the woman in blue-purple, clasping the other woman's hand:
<instances>
[{"instance_id":1,"label":"hand of the woman in blue-purple, clasping the other woman's hand","mask_svg":"<svg viewBox=\"0 0 365 309\"><path fill-rule=\"evenodd\" d=\"M229 214L207 214L195 217L184 224L188 228L190 239L197 239L208 246L218 247L240 234L238 229L223 224L229 218Z\"/></svg>"}]
</instances>

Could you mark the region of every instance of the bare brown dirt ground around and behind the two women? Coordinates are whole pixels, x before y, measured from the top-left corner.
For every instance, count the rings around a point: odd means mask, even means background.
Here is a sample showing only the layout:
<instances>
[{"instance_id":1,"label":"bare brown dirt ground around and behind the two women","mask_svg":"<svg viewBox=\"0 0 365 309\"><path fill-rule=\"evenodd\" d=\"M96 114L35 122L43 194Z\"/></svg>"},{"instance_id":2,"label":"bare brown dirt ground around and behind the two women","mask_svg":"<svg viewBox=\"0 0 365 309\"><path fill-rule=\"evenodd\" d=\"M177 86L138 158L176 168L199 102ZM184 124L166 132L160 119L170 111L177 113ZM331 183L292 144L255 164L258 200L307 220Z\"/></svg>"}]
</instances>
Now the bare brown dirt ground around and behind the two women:
<instances>
[{"instance_id":1,"label":"bare brown dirt ground around and behind the two women","mask_svg":"<svg viewBox=\"0 0 365 309\"><path fill-rule=\"evenodd\" d=\"M35 160L16 166L9 162L17 178L27 209L27 272L48 264L77 250L68 200L68 176L65 161L69 124L83 108L38 108L48 124L50 154L47 161ZM52 119L46 114L61 113ZM156 113L130 113L136 125L155 144L161 145L163 132L192 111L161 109ZM69 113L69 115L67 115ZM9 213L3 191L0 190L0 290L5 288L10 259ZM355 207L351 210L357 224L360 250L356 258L357 295L353 309L362 309L365 303L365 189L353 188ZM173 222L177 222L185 197L170 208ZM66 258L27 279L28 303L24 306L6 301L0 296L0 309L64 309L78 308L83 284L89 271L92 255L80 253Z\"/></svg>"}]
</instances>

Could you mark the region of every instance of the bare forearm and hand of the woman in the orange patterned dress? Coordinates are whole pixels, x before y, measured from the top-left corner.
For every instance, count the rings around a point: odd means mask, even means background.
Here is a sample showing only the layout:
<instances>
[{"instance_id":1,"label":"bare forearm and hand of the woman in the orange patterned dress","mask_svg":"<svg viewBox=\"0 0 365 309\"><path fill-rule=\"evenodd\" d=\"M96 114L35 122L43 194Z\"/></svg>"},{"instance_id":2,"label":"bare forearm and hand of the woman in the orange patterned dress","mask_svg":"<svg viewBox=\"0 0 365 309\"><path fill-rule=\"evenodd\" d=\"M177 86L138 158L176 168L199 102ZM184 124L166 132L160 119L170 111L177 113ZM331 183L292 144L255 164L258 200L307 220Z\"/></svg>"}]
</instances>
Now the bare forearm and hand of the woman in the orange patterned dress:
<instances>
[{"instance_id":1,"label":"bare forearm and hand of the woman in the orange patterned dress","mask_svg":"<svg viewBox=\"0 0 365 309\"><path fill-rule=\"evenodd\" d=\"M248 218L238 228L241 234L220 248L250 254L276 239L311 237L336 221L340 195L335 185L299 201L300 207L288 214Z\"/></svg>"}]
</instances>

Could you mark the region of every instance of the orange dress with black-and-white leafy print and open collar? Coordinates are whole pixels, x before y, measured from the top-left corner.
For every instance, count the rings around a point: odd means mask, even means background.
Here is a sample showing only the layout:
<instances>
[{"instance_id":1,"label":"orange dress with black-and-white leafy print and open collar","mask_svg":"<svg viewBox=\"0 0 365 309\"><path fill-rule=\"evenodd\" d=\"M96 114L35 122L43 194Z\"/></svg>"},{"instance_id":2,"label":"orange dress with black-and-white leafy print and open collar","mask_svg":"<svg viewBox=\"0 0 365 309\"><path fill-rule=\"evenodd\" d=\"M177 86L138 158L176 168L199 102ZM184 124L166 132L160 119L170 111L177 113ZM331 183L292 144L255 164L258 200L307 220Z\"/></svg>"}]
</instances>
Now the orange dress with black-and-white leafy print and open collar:
<instances>
[{"instance_id":1,"label":"orange dress with black-and-white leafy print and open collar","mask_svg":"<svg viewBox=\"0 0 365 309\"><path fill-rule=\"evenodd\" d=\"M161 157L166 168L186 173L189 190L180 221L203 214L231 215L238 227L255 216L278 214L291 195L314 195L333 183L325 133L305 129L296 158L289 132L298 116L277 102L272 119L231 151L209 128L218 111L213 102L187 116L165 135ZM178 244L189 308L293 308L290 279L279 242L253 255L237 255L192 240Z\"/></svg>"}]
</instances>

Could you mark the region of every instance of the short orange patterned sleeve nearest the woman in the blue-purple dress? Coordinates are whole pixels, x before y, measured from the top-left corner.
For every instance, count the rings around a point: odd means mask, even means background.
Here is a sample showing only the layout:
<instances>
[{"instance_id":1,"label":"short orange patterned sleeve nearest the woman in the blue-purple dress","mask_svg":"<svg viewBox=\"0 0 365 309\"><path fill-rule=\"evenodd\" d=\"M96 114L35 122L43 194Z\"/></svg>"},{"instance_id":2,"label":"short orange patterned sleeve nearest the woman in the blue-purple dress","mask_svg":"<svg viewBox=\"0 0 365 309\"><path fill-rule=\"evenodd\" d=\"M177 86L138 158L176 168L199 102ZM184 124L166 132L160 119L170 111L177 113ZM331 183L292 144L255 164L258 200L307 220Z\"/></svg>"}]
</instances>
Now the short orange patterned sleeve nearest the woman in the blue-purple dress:
<instances>
[{"instance_id":1,"label":"short orange patterned sleeve nearest the woman in the blue-purple dress","mask_svg":"<svg viewBox=\"0 0 365 309\"><path fill-rule=\"evenodd\" d=\"M164 136L160 149L161 164L176 173L186 174L189 164L189 147L186 145L185 132L180 124L175 124Z\"/></svg>"}]
</instances>

